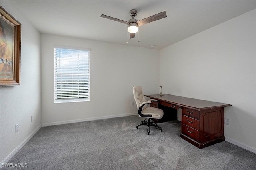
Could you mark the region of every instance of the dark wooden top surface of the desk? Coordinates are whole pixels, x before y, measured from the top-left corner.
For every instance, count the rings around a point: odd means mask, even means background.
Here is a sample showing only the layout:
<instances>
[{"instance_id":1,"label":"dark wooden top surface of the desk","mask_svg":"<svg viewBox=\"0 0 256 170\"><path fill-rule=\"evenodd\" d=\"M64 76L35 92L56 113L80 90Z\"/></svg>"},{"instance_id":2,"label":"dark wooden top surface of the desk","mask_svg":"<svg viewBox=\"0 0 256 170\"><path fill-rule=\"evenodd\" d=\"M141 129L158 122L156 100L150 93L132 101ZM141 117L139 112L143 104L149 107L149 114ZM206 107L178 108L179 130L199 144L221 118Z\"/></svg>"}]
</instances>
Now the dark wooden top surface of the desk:
<instances>
[{"instance_id":1,"label":"dark wooden top surface of the desk","mask_svg":"<svg viewBox=\"0 0 256 170\"><path fill-rule=\"evenodd\" d=\"M211 102L207 100L200 100L200 99L193 99L193 98L186 98L182 96L175 96L171 94L164 94L163 96L160 96L158 94L149 94L144 95L149 98L153 98L159 101L167 102L176 104L182 107L190 107L196 110L205 110L205 109L213 109L217 107L226 107L226 106L232 106L230 104L225 103L218 103L218 102Z\"/></svg>"}]
</instances>

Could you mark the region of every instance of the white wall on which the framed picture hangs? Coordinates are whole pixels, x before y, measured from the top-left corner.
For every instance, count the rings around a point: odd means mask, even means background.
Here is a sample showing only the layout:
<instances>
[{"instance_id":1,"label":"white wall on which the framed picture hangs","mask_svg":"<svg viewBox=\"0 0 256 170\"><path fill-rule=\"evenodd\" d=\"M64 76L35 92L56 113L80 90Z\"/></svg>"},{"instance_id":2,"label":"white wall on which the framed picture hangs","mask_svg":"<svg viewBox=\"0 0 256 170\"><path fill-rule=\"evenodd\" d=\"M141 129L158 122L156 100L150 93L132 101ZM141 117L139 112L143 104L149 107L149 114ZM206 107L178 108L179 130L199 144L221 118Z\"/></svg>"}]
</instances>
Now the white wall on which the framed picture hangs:
<instances>
[{"instance_id":1,"label":"white wall on which the framed picture hangs","mask_svg":"<svg viewBox=\"0 0 256 170\"><path fill-rule=\"evenodd\" d=\"M1 6L22 24L20 86L0 88L0 161L3 162L41 126L41 81L40 33L10 2L1 1ZM17 133L16 124L20 125Z\"/></svg>"}]
</instances>

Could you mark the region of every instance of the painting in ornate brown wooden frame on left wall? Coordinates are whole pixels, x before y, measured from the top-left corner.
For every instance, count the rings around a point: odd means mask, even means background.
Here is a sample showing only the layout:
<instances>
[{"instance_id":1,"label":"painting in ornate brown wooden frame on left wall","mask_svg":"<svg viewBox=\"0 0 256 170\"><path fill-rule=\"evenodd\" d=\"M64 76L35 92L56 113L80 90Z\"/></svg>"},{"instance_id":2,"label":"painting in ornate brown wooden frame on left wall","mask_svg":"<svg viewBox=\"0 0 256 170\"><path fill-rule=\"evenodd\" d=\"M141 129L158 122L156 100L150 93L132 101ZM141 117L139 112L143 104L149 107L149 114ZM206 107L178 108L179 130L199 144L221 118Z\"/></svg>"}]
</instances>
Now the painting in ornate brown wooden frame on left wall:
<instances>
[{"instance_id":1,"label":"painting in ornate brown wooden frame on left wall","mask_svg":"<svg viewBox=\"0 0 256 170\"><path fill-rule=\"evenodd\" d=\"M20 86L21 24L0 6L0 86Z\"/></svg>"}]
</instances>

